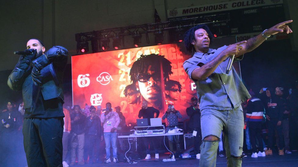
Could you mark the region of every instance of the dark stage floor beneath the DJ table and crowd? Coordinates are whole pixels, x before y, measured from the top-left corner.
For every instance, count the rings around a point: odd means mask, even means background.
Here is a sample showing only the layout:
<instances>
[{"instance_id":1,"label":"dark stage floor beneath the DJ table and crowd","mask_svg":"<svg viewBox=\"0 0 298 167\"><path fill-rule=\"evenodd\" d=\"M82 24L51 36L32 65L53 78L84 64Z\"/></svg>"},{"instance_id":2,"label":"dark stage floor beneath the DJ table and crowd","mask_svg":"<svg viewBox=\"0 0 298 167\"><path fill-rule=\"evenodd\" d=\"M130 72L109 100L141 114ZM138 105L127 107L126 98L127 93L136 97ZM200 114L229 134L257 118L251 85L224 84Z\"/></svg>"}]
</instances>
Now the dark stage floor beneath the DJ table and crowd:
<instances>
[{"instance_id":1,"label":"dark stage floor beneath the DJ table and crowd","mask_svg":"<svg viewBox=\"0 0 298 167\"><path fill-rule=\"evenodd\" d=\"M154 156L152 154L152 156ZM160 159L166 158L165 154L160 154ZM162 160L155 161L154 159L151 160L140 160L136 164L128 164L127 162L119 162L119 163L108 163L108 164L103 164L103 163L94 163L92 165L85 164L83 166L85 167L95 167L95 166L178 166L178 167L184 167L184 166L198 166L199 160L197 159L187 159L187 160L178 160L176 158L176 162L162 162ZM78 166L78 165L76 165ZM224 167L227 166L227 160L225 157L220 157L217 156L216 160L216 166L219 167ZM298 151L294 151L292 154L285 154L284 156L278 156L277 154L275 155L270 155L266 157L258 157L258 158L251 158L250 156L243 158L242 166L249 166L249 167L256 167L256 166L263 166L263 167L280 167L280 166L298 166Z\"/></svg>"}]
</instances>

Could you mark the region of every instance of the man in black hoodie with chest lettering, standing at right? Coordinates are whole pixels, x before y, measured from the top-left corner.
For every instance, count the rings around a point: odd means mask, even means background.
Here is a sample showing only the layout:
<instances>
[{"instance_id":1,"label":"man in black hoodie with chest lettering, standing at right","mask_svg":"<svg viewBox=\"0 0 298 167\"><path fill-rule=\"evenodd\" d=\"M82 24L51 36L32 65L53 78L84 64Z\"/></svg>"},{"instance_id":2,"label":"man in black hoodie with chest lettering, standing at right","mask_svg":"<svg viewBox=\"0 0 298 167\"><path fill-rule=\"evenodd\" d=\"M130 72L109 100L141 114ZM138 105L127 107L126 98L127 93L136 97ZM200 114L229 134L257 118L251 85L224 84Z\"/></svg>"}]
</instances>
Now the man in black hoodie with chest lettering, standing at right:
<instances>
[{"instance_id":1,"label":"man in black hoodie with chest lettering, standing at right","mask_svg":"<svg viewBox=\"0 0 298 167\"><path fill-rule=\"evenodd\" d=\"M271 93L272 92L272 93ZM267 89L266 96L267 108L266 119L268 126L268 149L265 150L266 155L272 155L272 148L274 146L275 130L278 134L279 151L278 155L284 155L284 137L282 135L282 118L283 118L283 103L282 99L273 94L273 90Z\"/></svg>"}]
</instances>

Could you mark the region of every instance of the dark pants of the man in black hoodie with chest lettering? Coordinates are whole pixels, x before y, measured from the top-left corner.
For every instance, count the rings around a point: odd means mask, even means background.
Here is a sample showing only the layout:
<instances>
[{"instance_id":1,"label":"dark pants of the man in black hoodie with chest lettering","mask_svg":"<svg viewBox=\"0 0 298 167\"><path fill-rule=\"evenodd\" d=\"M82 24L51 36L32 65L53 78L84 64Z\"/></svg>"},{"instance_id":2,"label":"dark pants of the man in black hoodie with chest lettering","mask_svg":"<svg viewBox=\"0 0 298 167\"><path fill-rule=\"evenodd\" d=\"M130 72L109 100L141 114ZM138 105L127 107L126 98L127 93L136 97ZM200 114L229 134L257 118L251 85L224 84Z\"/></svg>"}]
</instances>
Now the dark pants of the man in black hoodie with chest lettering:
<instances>
[{"instance_id":1,"label":"dark pants of the man in black hoodie with chest lettering","mask_svg":"<svg viewBox=\"0 0 298 167\"><path fill-rule=\"evenodd\" d=\"M268 125L268 148L273 147L273 139L275 136L275 130L277 131L278 135L278 146L279 149L282 150L284 148L284 137L282 135L282 125L277 126L277 119L271 119L267 120L267 125Z\"/></svg>"}]
</instances>

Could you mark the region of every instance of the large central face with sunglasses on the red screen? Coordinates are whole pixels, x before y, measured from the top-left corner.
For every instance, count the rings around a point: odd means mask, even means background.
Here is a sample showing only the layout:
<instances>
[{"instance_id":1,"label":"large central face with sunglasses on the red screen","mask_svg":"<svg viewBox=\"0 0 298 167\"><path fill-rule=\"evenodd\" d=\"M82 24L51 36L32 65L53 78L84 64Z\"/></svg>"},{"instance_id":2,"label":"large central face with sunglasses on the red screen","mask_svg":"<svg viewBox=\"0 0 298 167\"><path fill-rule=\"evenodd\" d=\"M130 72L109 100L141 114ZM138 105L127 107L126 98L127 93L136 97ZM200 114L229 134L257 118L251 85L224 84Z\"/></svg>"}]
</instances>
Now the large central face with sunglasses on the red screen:
<instances>
[{"instance_id":1,"label":"large central face with sunglasses on the red screen","mask_svg":"<svg viewBox=\"0 0 298 167\"><path fill-rule=\"evenodd\" d=\"M147 71L145 71L143 75L144 77L142 77L142 79L138 78L138 86L141 95L149 103L154 103L162 96L160 75L151 69L151 65L149 65Z\"/></svg>"}]
</instances>

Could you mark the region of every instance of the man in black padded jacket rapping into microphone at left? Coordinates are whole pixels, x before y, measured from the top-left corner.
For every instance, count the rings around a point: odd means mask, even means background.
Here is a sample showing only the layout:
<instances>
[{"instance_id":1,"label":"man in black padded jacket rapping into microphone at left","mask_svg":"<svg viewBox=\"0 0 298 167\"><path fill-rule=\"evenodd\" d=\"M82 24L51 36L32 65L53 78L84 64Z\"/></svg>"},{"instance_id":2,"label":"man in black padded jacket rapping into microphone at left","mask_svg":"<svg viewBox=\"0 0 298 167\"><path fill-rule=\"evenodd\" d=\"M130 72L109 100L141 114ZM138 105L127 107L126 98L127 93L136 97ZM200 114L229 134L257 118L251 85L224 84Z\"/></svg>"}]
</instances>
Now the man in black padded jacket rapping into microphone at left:
<instances>
[{"instance_id":1,"label":"man in black padded jacket rapping into microphone at left","mask_svg":"<svg viewBox=\"0 0 298 167\"><path fill-rule=\"evenodd\" d=\"M7 85L22 90L24 148L28 166L62 166L62 78L68 51L54 46L45 52L42 41L30 39L9 75Z\"/></svg>"}]
</instances>

